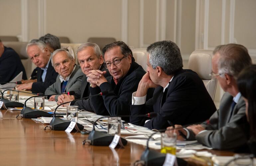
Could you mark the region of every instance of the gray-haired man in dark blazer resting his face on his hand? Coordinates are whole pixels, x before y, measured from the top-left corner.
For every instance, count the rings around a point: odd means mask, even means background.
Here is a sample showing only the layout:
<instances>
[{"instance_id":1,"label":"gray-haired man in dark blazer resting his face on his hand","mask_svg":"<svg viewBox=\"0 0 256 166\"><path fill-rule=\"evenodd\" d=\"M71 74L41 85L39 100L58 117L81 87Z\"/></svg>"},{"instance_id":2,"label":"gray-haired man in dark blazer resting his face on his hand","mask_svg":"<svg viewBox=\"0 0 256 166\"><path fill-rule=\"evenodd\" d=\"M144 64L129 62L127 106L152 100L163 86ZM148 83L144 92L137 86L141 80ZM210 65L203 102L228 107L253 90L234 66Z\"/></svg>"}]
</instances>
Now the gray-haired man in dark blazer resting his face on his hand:
<instances>
[{"instance_id":1,"label":"gray-haired man in dark blazer resting his face on his hand","mask_svg":"<svg viewBox=\"0 0 256 166\"><path fill-rule=\"evenodd\" d=\"M147 48L147 73L133 93L130 122L149 129L164 129L173 124L191 124L208 119L216 107L200 77L182 69L179 47L171 41L160 41ZM146 102L149 88L156 88ZM152 119L136 117L157 113Z\"/></svg>"}]
</instances>

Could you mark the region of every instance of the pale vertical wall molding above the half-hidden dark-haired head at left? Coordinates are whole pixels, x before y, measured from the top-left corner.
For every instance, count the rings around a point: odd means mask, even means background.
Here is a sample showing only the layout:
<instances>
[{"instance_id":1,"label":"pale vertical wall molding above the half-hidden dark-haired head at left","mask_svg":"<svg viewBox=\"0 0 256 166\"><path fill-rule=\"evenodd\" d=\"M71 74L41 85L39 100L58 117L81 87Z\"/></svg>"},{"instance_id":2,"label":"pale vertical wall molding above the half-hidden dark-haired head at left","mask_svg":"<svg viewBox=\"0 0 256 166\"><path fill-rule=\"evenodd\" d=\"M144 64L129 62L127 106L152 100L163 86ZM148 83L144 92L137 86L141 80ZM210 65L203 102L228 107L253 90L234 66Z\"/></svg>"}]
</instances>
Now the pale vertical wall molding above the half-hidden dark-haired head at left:
<instances>
[{"instance_id":1,"label":"pale vertical wall molding above the half-hidden dark-haired head at left","mask_svg":"<svg viewBox=\"0 0 256 166\"><path fill-rule=\"evenodd\" d=\"M38 37L46 34L46 0L38 0Z\"/></svg>"}]
</instances>

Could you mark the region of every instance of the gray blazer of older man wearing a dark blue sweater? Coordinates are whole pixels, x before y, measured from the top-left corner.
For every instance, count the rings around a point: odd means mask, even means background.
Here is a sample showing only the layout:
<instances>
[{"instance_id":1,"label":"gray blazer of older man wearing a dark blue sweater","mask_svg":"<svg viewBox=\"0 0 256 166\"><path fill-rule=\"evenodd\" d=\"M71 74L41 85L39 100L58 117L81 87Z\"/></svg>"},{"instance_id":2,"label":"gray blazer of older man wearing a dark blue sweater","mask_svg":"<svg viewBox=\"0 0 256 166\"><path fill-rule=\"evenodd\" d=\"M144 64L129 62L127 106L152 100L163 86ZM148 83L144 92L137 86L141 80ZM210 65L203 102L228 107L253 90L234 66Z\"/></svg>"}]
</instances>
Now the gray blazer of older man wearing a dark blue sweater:
<instances>
[{"instance_id":1,"label":"gray blazer of older man wearing a dark blue sweater","mask_svg":"<svg viewBox=\"0 0 256 166\"><path fill-rule=\"evenodd\" d=\"M61 93L61 80L59 77L60 77L60 74L57 76L56 82L46 89L45 95ZM83 77L83 72L80 66L76 65L73 73L71 74L67 82L65 92L77 90L81 86L82 77ZM55 96L56 101L58 101L58 96L59 95Z\"/></svg>"}]
</instances>

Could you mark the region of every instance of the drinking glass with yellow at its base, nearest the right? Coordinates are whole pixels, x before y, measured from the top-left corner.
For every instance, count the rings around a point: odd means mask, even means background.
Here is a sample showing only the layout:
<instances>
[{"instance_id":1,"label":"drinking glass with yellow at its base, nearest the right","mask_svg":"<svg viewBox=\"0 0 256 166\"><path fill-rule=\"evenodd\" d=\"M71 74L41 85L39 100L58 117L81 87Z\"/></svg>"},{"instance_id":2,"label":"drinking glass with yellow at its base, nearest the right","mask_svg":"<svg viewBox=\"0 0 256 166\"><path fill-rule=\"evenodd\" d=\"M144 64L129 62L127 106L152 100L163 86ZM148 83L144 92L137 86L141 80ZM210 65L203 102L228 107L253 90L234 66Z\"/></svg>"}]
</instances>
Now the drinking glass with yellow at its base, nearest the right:
<instances>
[{"instance_id":1,"label":"drinking glass with yellow at its base, nearest the right","mask_svg":"<svg viewBox=\"0 0 256 166\"><path fill-rule=\"evenodd\" d=\"M176 133L161 133L161 153L176 155Z\"/></svg>"}]
</instances>

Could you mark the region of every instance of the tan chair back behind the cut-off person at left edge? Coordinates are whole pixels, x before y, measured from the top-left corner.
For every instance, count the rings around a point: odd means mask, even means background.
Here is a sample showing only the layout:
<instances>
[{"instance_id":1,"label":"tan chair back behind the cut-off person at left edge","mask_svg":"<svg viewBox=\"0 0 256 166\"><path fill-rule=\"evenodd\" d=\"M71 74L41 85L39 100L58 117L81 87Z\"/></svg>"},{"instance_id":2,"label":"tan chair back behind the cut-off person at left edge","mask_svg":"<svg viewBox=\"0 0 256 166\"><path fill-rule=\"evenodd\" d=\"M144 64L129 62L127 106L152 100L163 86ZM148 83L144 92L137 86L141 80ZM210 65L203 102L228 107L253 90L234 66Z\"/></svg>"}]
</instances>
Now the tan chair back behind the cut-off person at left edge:
<instances>
[{"instance_id":1,"label":"tan chair back behind the cut-off person at left edge","mask_svg":"<svg viewBox=\"0 0 256 166\"><path fill-rule=\"evenodd\" d=\"M27 42L3 42L3 44L5 47L10 47L14 49L16 53L18 53L21 62L26 70L27 78L29 79L32 73L32 62L26 52Z\"/></svg>"}]
</instances>

